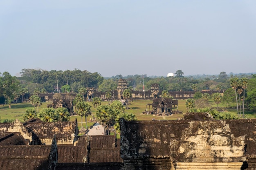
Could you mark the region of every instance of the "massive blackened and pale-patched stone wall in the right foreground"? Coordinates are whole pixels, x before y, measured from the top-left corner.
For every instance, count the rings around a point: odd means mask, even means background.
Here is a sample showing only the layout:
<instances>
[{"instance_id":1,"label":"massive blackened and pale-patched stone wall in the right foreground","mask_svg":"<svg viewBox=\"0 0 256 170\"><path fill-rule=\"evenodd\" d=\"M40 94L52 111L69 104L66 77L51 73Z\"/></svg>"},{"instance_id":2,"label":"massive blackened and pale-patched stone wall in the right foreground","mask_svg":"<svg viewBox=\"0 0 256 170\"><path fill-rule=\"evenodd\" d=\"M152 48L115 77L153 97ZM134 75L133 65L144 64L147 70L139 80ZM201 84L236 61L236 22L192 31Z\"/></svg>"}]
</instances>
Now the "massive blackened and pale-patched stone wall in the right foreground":
<instances>
[{"instance_id":1,"label":"massive blackened and pale-patched stone wall in the right foreground","mask_svg":"<svg viewBox=\"0 0 256 170\"><path fill-rule=\"evenodd\" d=\"M255 170L256 120L125 121L123 170ZM145 168L146 167L146 168Z\"/></svg>"}]
</instances>

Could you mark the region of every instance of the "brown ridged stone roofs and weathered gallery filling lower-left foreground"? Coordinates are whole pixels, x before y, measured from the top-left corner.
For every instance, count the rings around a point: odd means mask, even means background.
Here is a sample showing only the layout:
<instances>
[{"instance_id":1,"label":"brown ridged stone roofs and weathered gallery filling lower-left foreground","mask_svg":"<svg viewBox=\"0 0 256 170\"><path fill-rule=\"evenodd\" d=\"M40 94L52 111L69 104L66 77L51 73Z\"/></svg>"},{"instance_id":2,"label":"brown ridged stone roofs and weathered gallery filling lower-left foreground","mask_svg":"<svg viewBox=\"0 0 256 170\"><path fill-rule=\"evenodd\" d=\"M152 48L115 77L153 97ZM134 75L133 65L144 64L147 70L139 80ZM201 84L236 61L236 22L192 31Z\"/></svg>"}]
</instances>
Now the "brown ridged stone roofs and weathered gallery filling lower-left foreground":
<instances>
[{"instance_id":1,"label":"brown ridged stone roofs and weathered gallery filling lower-left foreground","mask_svg":"<svg viewBox=\"0 0 256 170\"><path fill-rule=\"evenodd\" d=\"M19 133L20 131L23 132ZM116 135L77 135L77 121L67 123L33 121L25 124L16 121L13 124L0 124L0 169L119 170L121 168L123 159L120 156L120 139L117 139ZM30 138L28 139L27 136ZM42 145L43 141L47 142Z\"/></svg>"}]
</instances>

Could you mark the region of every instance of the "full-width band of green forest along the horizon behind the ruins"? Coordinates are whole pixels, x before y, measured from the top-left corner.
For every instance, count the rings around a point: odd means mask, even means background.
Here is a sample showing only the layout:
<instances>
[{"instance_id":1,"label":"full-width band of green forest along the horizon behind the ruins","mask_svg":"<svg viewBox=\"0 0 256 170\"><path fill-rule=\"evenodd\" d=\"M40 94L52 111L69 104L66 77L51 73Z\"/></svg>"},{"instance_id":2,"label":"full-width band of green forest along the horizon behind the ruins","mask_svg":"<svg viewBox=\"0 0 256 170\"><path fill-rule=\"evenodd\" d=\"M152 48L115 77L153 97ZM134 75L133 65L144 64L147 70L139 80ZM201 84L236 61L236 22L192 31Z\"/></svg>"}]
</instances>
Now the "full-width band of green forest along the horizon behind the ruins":
<instances>
[{"instance_id":1,"label":"full-width band of green forest along the horizon behind the ruins","mask_svg":"<svg viewBox=\"0 0 256 170\"><path fill-rule=\"evenodd\" d=\"M222 102L236 102L245 97L251 110L256 110L256 74L232 74L220 72L219 75L190 75L184 76L177 70L174 76L157 77L144 75L116 75L102 77L100 73L91 73L74 69L73 71L45 71L42 69L22 69L20 77L11 76L8 72L0 73L0 103L12 102L26 94L40 93L79 93L89 87L99 92L117 90L118 79L126 79L128 88L135 91L150 90L157 83L160 91L220 91L224 93ZM235 91L234 91L235 90ZM85 92L84 92L85 93ZM235 95L236 94L236 95ZM244 94L244 95L243 95ZM200 96L200 94L197 94Z\"/></svg>"}]
</instances>

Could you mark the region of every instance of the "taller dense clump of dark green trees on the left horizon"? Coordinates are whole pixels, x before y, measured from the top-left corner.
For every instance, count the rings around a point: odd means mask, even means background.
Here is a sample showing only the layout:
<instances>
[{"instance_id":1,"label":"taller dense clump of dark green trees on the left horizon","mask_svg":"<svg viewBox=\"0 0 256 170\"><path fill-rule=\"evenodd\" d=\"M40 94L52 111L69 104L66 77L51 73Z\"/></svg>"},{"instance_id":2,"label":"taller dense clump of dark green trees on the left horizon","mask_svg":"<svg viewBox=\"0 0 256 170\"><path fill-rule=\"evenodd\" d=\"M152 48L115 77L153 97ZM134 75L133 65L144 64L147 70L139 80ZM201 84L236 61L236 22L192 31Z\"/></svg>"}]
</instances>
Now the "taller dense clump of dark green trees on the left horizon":
<instances>
[{"instance_id":1,"label":"taller dense clump of dark green trees on the left horizon","mask_svg":"<svg viewBox=\"0 0 256 170\"><path fill-rule=\"evenodd\" d=\"M45 71L42 69L22 69L19 79L22 86L29 88L29 93L33 93L35 86L45 88L47 92L58 92L64 85L70 87L63 88L62 92L72 91L78 93L81 87L98 87L103 82L103 77L99 73L90 73L74 69L73 71ZM40 84L40 85L38 85Z\"/></svg>"}]
</instances>

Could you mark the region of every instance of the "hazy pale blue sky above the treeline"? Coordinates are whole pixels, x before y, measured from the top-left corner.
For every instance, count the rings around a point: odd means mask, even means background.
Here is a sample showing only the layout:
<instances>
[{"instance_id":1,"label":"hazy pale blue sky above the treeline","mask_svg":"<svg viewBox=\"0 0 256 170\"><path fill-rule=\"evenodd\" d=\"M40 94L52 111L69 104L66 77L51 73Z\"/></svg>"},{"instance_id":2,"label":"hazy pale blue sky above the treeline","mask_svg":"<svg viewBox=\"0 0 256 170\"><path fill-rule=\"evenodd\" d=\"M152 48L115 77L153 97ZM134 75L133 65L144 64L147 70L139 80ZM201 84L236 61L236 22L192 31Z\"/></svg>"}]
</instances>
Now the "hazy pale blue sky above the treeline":
<instances>
[{"instance_id":1,"label":"hazy pale blue sky above the treeline","mask_svg":"<svg viewBox=\"0 0 256 170\"><path fill-rule=\"evenodd\" d=\"M0 0L0 73L255 73L255 9L255 0Z\"/></svg>"}]
</instances>

